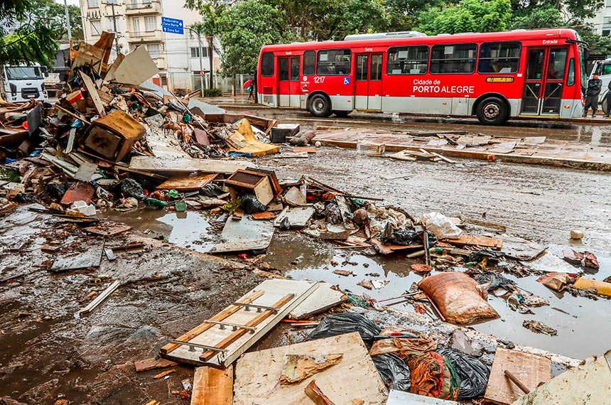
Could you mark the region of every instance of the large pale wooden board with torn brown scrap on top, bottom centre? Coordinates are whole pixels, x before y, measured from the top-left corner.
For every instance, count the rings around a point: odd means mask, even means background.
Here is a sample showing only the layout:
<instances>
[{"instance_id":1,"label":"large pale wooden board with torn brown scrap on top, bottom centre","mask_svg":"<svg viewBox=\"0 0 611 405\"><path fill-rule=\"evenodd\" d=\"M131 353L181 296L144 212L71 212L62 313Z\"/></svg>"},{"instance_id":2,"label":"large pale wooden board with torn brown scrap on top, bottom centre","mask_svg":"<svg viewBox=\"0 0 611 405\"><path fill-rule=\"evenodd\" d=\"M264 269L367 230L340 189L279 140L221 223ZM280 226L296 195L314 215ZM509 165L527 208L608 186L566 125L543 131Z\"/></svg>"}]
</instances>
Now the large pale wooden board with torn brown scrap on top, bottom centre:
<instances>
[{"instance_id":1,"label":"large pale wooden board with torn brown scrap on top, bottom centre","mask_svg":"<svg viewBox=\"0 0 611 405\"><path fill-rule=\"evenodd\" d=\"M279 384L286 355L340 353L343 357L337 365L301 382ZM367 405L386 403L386 387L358 333L249 352L237 361L235 374L234 405L309 404L303 390L313 379L335 404L352 404L353 399L362 399Z\"/></svg>"}]
</instances>

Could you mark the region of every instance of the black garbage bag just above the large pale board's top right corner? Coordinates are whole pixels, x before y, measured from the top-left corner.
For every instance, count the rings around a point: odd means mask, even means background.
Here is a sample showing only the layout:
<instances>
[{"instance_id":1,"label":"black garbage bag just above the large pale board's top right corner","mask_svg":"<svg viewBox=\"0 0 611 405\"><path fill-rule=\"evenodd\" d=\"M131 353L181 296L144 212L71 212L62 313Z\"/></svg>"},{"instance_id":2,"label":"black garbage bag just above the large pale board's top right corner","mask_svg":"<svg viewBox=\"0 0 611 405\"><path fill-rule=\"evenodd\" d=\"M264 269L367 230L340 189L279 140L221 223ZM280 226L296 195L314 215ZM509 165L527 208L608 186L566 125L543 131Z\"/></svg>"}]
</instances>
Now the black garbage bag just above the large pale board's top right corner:
<instances>
[{"instance_id":1,"label":"black garbage bag just above the large pale board's top right corner","mask_svg":"<svg viewBox=\"0 0 611 405\"><path fill-rule=\"evenodd\" d=\"M379 335L382 329L373 320L369 320L359 313L336 313L320 320L308 339L330 338L331 336L352 332L358 332L367 348L370 348L373 345L374 336Z\"/></svg>"}]
</instances>

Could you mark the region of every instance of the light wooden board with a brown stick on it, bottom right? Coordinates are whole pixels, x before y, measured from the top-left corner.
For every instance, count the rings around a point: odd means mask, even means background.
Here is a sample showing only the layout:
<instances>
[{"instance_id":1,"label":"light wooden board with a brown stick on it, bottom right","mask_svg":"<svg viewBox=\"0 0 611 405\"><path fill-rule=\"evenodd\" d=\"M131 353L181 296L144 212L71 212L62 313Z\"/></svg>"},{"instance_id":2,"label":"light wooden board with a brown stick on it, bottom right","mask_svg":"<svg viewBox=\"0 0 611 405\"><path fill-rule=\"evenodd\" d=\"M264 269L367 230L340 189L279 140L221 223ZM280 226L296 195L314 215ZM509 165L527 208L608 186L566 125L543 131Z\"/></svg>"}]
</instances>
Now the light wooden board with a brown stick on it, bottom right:
<instances>
[{"instance_id":1,"label":"light wooden board with a brown stick on it, bottom right","mask_svg":"<svg viewBox=\"0 0 611 405\"><path fill-rule=\"evenodd\" d=\"M513 404L524 392L505 377L504 370L514 374L531 391L540 382L551 379L551 360L532 353L497 347L484 399L497 405Z\"/></svg>"}]
</instances>

